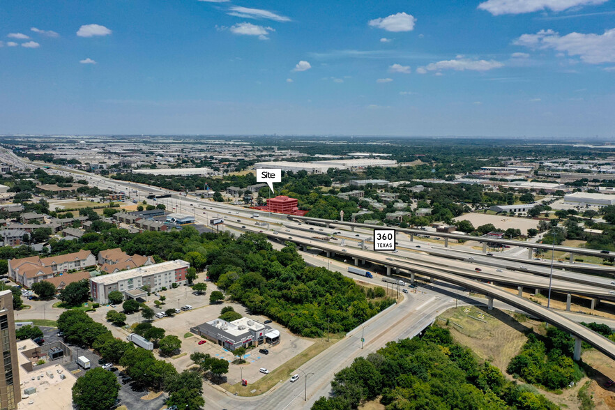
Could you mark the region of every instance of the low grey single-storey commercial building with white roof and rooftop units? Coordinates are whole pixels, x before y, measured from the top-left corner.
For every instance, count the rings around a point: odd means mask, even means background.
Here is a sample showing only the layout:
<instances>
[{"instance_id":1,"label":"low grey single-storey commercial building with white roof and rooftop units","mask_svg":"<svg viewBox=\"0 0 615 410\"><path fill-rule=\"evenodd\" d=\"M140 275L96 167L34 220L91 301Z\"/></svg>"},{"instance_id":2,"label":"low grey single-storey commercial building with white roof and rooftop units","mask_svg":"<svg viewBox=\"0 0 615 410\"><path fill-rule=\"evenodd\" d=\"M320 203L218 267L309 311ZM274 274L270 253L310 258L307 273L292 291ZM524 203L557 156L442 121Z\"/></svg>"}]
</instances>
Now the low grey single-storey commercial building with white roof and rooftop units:
<instances>
[{"instance_id":1,"label":"low grey single-storey commercial building with white roof and rooftop units","mask_svg":"<svg viewBox=\"0 0 615 410\"><path fill-rule=\"evenodd\" d=\"M227 350L239 347L259 346L263 343L280 342L280 331L261 324L254 319L242 317L234 321L213 319L204 324L190 328L190 332L218 343Z\"/></svg>"}]
</instances>

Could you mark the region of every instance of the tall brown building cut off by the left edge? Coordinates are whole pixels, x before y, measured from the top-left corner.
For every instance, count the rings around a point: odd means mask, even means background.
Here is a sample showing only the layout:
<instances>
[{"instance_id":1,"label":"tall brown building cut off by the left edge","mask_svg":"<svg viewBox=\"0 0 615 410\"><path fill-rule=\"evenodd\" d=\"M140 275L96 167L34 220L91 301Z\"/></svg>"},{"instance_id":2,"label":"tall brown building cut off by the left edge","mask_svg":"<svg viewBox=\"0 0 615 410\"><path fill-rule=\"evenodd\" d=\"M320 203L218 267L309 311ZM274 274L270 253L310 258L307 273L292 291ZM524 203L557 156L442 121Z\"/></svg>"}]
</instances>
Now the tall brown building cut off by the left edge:
<instances>
[{"instance_id":1,"label":"tall brown building cut off by the left edge","mask_svg":"<svg viewBox=\"0 0 615 410\"><path fill-rule=\"evenodd\" d=\"M3 371L0 372L0 409L17 409L22 400L20 370L17 361L13 293L0 291L0 337L2 340Z\"/></svg>"}]
</instances>

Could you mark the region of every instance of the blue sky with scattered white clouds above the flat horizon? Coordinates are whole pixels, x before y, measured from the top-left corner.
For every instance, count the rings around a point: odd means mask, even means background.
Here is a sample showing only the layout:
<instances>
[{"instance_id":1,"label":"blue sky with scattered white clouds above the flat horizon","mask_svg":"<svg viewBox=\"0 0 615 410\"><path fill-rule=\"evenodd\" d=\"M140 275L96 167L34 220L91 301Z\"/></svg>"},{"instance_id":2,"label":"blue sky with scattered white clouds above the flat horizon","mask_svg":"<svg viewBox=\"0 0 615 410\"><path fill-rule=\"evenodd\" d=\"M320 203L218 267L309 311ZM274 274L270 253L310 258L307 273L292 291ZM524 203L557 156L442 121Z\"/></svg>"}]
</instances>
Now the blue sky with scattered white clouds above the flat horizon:
<instances>
[{"instance_id":1,"label":"blue sky with scattered white clouds above the flat horizon","mask_svg":"<svg viewBox=\"0 0 615 410\"><path fill-rule=\"evenodd\" d=\"M0 2L0 134L615 137L615 0Z\"/></svg>"}]
</instances>

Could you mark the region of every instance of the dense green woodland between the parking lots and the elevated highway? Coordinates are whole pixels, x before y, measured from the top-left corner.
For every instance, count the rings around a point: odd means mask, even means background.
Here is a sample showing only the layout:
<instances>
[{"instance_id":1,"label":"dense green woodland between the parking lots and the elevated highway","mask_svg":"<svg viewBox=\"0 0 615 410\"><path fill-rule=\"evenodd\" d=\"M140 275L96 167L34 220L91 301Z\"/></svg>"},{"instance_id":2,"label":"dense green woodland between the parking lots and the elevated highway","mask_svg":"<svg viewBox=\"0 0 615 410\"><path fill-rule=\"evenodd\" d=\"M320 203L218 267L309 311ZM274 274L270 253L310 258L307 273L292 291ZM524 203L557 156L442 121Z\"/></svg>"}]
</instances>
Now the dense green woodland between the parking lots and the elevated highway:
<instances>
[{"instance_id":1,"label":"dense green woodland between the parking lots and the elevated highway","mask_svg":"<svg viewBox=\"0 0 615 410\"><path fill-rule=\"evenodd\" d=\"M393 303L368 300L354 280L306 266L294 247L273 250L266 238L244 234L207 255L209 278L253 314L293 333L319 337L327 328L347 332Z\"/></svg>"}]
</instances>

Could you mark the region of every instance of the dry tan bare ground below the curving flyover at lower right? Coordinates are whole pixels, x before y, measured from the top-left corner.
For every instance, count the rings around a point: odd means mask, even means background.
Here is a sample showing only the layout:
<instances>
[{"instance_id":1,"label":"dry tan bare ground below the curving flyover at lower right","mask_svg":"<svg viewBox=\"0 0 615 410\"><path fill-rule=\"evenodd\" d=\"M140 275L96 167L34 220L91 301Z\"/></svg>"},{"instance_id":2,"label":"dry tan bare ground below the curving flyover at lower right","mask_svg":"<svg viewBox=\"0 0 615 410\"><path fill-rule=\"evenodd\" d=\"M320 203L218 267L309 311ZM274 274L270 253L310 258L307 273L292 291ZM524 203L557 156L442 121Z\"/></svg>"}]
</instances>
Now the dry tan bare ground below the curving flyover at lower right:
<instances>
[{"instance_id":1,"label":"dry tan bare ground below the curving flyover at lower right","mask_svg":"<svg viewBox=\"0 0 615 410\"><path fill-rule=\"evenodd\" d=\"M450 329L457 342L469 347L480 360L488 360L506 377L506 367L526 342L524 332L545 333L542 321L528 319L523 314L503 310L486 310L475 306L462 306L447 310L437 320L440 326ZM576 386L561 393L538 389L549 400L561 408L579 409L579 389L589 383L589 397L595 409L615 408L615 390L604 388L607 379L615 379L615 362L595 349L583 352L582 360L591 375L583 377ZM522 381L519 381L522 383Z\"/></svg>"}]
</instances>

